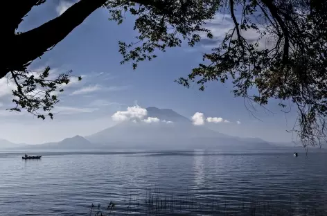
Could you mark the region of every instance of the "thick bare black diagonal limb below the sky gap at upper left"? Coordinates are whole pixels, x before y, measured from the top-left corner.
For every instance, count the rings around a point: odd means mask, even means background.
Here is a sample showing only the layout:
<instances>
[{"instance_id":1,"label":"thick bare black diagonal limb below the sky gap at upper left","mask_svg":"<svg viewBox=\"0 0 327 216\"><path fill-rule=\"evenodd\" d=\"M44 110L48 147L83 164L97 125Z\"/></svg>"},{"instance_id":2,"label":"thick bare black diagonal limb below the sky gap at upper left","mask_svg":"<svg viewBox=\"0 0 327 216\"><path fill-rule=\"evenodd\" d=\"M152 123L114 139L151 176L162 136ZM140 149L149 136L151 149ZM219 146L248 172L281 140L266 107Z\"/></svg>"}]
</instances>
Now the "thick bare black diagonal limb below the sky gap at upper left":
<instances>
[{"instance_id":1,"label":"thick bare black diagonal limb below the sky gap at upper left","mask_svg":"<svg viewBox=\"0 0 327 216\"><path fill-rule=\"evenodd\" d=\"M71 31L82 24L94 10L103 6L106 0L80 0L68 8L61 16L46 22L42 26L15 35L5 48L6 62L0 71L0 78L9 71L26 69L26 66L43 55L48 48L55 46L67 37ZM22 51L22 52L17 52Z\"/></svg>"}]
</instances>

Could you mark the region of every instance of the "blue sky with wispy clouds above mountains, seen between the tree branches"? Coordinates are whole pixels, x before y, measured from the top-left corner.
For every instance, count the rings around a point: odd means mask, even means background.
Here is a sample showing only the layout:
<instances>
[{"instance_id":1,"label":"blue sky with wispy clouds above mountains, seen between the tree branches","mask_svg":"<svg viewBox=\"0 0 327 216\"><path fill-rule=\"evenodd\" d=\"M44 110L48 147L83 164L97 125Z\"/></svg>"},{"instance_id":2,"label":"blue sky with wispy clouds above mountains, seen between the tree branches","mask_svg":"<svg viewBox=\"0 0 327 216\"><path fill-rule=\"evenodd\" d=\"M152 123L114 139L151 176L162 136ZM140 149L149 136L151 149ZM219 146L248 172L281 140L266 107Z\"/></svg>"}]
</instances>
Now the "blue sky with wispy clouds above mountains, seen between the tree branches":
<instances>
[{"instance_id":1,"label":"blue sky with wispy clouds above mountains, seen between the tree branches","mask_svg":"<svg viewBox=\"0 0 327 216\"><path fill-rule=\"evenodd\" d=\"M60 15L73 1L46 1L33 8L19 26L20 31L35 28ZM249 112L243 98L234 98L230 82L212 82L206 91L197 86L186 89L174 82L188 75L202 63L202 53L210 52L224 33L231 28L228 15L217 14L209 21L214 40L203 40L194 48L171 48L150 62L141 62L134 71L131 64L121 65L118 40L133 42L137 33L133 19L128 17L117 25L108 20L108 11L96 10L62 42L57 44L30 66L32 70L51 67L55 75L72 70L71 83L60 96L55 107L54 120L41 120L26 112L6 111L12 107L12 84L0 80L0 138L15 143L45 143L64 138L87 136L116 124L113 116L117 111L134 107L170 108L193 120L195 125L211 128L242 137L258 137L266 141L290 142L296 115L285 114L279 101L270 101L269 111L256 106ZM255 35L247 33L251 38ZM265 41L265 46L269 46ZM267 45L268 44L268 45ZM81 75L82 81L77 77Z\"/></svg>"}]
</instances>

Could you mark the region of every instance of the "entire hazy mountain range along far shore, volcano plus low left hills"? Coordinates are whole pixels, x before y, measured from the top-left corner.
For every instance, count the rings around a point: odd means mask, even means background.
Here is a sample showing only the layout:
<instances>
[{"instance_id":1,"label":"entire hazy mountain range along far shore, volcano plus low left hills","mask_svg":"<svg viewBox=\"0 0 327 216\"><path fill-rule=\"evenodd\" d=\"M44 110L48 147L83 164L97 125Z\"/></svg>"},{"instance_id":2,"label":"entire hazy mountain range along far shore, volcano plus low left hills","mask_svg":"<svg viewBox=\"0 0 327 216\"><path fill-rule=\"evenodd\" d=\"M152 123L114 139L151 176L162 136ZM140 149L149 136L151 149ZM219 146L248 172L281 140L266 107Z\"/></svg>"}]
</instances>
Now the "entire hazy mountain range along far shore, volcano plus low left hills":
<instances>
[{"instance_id":1,"label":"entire hazy mountain range along far shore, volcano plus low left hills","mask_svg":"<svg viewBox=\"0 0 327 216\"><path fill-rule=\"evenodd\" d=\"M60 142L40 145L10 143L0 139L0 149L99 150L99 149L194 149L235 147L273 147L260 138L240 138L195 126L172 109L148 107L147 116L160 122L125 121L90 136L73 136Z\"/></svg>"}]
</instances>

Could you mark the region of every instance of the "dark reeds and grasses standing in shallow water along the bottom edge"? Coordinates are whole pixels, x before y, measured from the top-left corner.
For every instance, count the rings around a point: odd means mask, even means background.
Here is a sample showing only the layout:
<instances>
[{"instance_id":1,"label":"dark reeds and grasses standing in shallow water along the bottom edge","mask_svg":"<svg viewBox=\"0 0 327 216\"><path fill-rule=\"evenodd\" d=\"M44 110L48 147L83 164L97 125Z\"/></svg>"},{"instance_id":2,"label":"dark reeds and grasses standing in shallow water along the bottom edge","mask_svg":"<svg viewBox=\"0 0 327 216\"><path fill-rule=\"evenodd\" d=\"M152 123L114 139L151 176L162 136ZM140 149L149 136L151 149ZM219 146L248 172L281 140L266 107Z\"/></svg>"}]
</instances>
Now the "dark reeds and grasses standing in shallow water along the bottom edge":
<instances>
[{"instance_id":1,"label":"dark reeds and grasses standing in shallow water along the bottom edge","mask_svg":"<svg viewBox=\"0 0 327 216\"><path fill-rule=\"evenodd\" d=\"M223 216L327 216L326 204L309 205L310 201L289 199L261 199L252 197L221 201L191 195L164 195L159 190L145 196L127 195L107 205L92 204L90 216L106 215L223 215Z\"/></svg>"}]
</instances>

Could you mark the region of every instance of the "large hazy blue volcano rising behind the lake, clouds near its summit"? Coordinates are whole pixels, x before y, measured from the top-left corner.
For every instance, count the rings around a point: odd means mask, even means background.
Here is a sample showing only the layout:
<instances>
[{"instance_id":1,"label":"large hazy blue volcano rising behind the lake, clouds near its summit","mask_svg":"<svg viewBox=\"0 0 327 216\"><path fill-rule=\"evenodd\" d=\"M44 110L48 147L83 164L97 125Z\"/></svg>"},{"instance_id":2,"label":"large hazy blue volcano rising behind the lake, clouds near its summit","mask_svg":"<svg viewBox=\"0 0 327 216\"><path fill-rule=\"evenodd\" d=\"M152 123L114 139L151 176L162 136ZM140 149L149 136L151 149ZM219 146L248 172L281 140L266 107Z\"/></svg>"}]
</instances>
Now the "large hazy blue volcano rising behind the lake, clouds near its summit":
<instances>
[{"instance_id":1,"label":"large hazy blue volcano rising behind the lake, clouds near its summit","mask_svg":"<svg viewBox=\"0 0 327 216\"><path fill-rule=\"evenodd\" d=\"M172 109L158 109L148 107L148 115L145 117L159 118L160 120L172 121L166 123L133 123L131 121L119 123L96 134L86 136L91 143L100 143L107 147L150 147L150 148L215 148L223 145L228 146L262 146L269 147L265 141L229 136L215 132L204 126L195 126L191 120L177 114Z\"/></svg>"}]
</instances>

